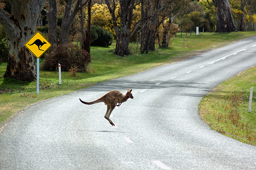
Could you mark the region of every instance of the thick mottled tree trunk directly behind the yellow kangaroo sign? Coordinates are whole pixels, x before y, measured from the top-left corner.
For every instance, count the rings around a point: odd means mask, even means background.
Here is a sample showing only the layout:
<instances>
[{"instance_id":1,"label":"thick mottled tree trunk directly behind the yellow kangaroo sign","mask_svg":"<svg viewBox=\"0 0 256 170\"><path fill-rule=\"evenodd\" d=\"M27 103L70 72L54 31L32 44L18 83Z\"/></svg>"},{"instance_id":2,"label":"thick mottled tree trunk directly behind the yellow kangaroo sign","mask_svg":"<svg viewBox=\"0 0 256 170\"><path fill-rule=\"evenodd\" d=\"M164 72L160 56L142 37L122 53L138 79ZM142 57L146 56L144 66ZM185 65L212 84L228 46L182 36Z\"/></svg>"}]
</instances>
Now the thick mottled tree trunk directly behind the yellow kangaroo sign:
<instances>
[{"instance_id":1,"label":"thick mottled tree trunk directly behind the yellow kangaroo sign","mask_svg":"<svg viewBox=\"0 0 256 170\"><path fill-rule=\"evenodd\" d=\"M24 44L35 34L37 18L46 0L24 2L15 0L11 4L11 16L0 10L0 23L4 28L8 45L8 62L4 77L21 81L36 78L35 57Z\"/></svg>"}]
</instances>

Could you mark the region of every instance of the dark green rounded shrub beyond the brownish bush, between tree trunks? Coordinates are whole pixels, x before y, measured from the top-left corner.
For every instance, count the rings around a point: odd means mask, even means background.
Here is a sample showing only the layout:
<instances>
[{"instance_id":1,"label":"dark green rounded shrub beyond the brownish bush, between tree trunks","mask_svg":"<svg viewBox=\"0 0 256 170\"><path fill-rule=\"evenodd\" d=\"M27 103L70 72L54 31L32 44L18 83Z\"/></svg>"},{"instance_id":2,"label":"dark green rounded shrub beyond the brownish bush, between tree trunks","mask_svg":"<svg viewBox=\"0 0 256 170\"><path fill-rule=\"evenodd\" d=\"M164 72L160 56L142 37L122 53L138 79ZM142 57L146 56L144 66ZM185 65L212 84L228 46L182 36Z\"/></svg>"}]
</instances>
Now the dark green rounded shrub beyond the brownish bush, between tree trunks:
<instances>
[{"instance_id":1,"label":"dark green rounded shrub beyond the brownish bush, between tree trunks","mask_svg":"<svg viewBox=\"0 0 256 170\"><path fill-rule=\"evenodd\" d=\"M111 45L113 35L110 32L100 26L92 26L91 30L95 30L98 34L98 38L91 43L91 46L108 47Z\"/></svg>"}]
</instances>

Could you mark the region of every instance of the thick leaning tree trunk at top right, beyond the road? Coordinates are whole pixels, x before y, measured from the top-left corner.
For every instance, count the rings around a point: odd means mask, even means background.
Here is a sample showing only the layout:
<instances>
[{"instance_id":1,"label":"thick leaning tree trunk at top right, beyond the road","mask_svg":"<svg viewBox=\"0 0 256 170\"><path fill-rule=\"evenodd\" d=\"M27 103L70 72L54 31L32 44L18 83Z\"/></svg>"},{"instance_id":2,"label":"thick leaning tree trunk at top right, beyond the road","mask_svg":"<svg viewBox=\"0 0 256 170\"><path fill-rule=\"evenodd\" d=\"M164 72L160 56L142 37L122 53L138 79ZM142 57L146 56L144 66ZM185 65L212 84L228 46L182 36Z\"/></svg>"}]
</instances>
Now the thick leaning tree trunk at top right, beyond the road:
<instances>
[{"instance_id":1,"label":"thick leaning tree trunk at top right, beyond the road","mask_svg":"<svg viewBox=\"0 0 256 170\"><path fill-rule=\"evenodd\" d=\"M213 4L217 18L217 29L215 32L237 32L228 0L213 0Z\"/></svg>"}]
</instances>

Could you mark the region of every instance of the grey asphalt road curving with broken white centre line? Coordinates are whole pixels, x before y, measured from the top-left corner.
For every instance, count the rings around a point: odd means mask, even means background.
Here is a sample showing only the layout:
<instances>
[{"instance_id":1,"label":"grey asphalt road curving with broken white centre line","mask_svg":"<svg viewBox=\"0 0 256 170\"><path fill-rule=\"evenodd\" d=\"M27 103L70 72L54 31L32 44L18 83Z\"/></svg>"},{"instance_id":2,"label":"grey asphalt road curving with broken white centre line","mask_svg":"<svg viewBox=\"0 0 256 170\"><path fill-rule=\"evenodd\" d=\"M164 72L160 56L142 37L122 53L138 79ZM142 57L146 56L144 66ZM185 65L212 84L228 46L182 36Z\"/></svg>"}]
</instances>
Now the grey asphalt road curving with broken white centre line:
<instances>
[{"instance_id":1,"label":"grey asphalt road curving with broken white centre line","mask_svg":"<svg viewBox=\"0 0 256 170\"><path fill-rule=\"evenodd\" d=\"M1 170L255 170L256 147L211 130L198 104L222 81L256 65L256 37L30 106L0 134ZM85 105L107 91L113 110ZM233 89L232 89L233 90Z\"/></svg>"}]
</instances>

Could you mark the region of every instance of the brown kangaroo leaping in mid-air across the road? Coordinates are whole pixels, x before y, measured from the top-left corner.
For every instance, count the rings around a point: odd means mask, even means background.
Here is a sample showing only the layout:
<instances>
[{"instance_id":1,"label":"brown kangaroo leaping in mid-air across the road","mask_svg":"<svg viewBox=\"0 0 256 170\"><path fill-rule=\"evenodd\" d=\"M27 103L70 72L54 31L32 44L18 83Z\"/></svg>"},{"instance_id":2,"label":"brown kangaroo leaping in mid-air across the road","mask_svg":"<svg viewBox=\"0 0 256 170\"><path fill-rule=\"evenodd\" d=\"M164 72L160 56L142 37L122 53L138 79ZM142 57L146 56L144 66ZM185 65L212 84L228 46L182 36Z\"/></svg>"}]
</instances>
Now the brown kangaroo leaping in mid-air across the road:
<instances>
[{"instance_id":1,"label":"brown kangaroo leaping in mid-air across the road","mask_svg":"<svg viewBox=\"0 0 256 170\"><path fill-rule=\"evenodd\" d=\"M92 102L84 102L80 98L79 98L79 100L83 104L95 104L95 103L104 102L105 105L107 105L107 110L106 110L106 114L105 114L104 117L105 117L105 119L107 119L109 121L109 123L112 126L115 126L113 121L111 119L109 119L109 116L111 115L115 106L120 106L123 102L126 102L126 100L128 100L128 98L133 99L133 96L132 96L131 92L132 92L132 89L130 89L130 90L127 89L126 95L123 95L120 91L114 90L114 91L107 92L104 96L102 96L102 97L100 97L97 100L94 100Z\"/></svg>"}]
</instances>

